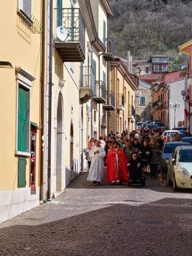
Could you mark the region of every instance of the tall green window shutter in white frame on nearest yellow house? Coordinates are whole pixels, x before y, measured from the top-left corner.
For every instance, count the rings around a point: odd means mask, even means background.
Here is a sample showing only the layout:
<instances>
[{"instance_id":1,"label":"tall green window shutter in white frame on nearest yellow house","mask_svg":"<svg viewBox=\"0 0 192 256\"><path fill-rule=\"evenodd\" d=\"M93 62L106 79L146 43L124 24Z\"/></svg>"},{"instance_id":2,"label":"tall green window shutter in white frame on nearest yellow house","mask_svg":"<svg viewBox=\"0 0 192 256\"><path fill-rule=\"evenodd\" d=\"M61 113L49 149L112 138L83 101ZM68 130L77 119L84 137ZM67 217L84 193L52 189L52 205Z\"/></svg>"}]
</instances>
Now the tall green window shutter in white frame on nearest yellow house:
<instances>
[{"instance_id":1,"label":"tall green window shutter in white frame on nearest yellow house","mask_svg":"<svg viewBox=\"0 0 192 256\"><path fill-rule=\"evenodd\" d=\"M19 85L17 149L21 152L29 152L29 100L29 89Z\"/></svg>"}]
</instances>

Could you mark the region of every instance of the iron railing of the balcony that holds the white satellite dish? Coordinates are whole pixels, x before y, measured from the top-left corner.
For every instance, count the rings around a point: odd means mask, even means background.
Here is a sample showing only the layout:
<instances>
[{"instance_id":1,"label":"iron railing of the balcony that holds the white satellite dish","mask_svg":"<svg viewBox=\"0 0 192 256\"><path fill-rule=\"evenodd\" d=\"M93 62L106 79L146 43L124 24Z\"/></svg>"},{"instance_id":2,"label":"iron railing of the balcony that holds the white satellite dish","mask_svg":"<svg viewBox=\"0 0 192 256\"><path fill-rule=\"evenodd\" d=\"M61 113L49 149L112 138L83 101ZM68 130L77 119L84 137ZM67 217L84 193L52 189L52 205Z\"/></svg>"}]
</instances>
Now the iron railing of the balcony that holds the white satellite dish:
<instances>
[{"instance_id":1,"label":"iron railing of the balcony that holds the white satellite dish","mask_svg":"<svg viewBox=\"0 0 192 256\"><path fill-rule=\"evenodd\" d=\"M85 24L79 8L54 9L54 40L60 41L56 35L57 27L63 26L68 32L66 42L80 43L85 52Z\"/></svg>"}]
</instances>

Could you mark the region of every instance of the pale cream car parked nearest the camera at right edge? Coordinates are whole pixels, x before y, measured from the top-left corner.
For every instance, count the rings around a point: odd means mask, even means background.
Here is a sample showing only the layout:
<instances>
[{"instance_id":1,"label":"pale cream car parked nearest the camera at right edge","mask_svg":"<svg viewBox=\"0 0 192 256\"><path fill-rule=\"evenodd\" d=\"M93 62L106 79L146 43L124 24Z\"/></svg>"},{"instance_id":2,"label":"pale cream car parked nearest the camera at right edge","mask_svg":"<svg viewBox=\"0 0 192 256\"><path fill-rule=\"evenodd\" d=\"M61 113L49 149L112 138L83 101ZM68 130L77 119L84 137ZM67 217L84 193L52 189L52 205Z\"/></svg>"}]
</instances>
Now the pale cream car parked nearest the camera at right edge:
<instances>
[{"instance_id":1,"label":"pale cream car parked nearest the camera at right edge","mask_svg":"<svg viewBox=\"0 0 192 256\"><path fill-rule=\"evenodd\" d=\"M192 188L192 146L179 146L168 162L168 182L174 191Z\"/></svg>"}]
</instances>

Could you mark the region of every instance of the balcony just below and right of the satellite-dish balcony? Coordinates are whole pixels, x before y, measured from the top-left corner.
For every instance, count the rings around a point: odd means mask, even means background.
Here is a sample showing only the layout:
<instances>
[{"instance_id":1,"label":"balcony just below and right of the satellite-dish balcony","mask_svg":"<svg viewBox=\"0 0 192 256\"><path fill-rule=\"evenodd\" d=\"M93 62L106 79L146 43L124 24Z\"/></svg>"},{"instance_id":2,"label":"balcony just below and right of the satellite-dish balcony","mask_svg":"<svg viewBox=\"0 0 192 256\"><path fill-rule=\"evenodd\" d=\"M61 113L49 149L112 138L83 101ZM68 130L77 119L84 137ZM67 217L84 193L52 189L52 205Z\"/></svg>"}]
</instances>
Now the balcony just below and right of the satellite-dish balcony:
<instances>
[{"instance_id":1,"label":"balcony just below and right of the satellite-dish balcony","mask_svg":"<svg viewBox=\"0 0 192 256\"><path fill-rule=\"evenodd\" d=\"M82 103L90 100L96 92L91 66L82 66L80 70L79 98Z\"/></svg>"}]
</instances>

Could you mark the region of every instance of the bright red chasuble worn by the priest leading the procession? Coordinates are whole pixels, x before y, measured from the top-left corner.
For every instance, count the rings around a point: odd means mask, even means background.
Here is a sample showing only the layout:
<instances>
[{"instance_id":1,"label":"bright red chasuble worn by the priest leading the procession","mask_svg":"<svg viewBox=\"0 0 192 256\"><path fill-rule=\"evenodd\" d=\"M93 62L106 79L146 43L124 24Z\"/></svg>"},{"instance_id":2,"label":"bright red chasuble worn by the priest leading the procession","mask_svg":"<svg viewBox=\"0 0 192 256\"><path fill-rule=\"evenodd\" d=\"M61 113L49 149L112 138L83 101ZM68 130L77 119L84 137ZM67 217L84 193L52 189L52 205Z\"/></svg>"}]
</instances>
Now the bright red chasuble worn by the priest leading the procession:
<instances>
[{"instance_id":1,"label":"bright red chasuble worn by the priest leading the procession","mask_svg":"<svg viewBox=\"0 0 192 256\"><path fill-rule=\"evenodd\" d=\"M127 159L123 152L123 149L117 149L118 154L118 166L116 162L116 150L110 149L107 154L107 182L112 180L120 180L122 182L128 182L127 177Z\"/></svg>"}]
</instances>

